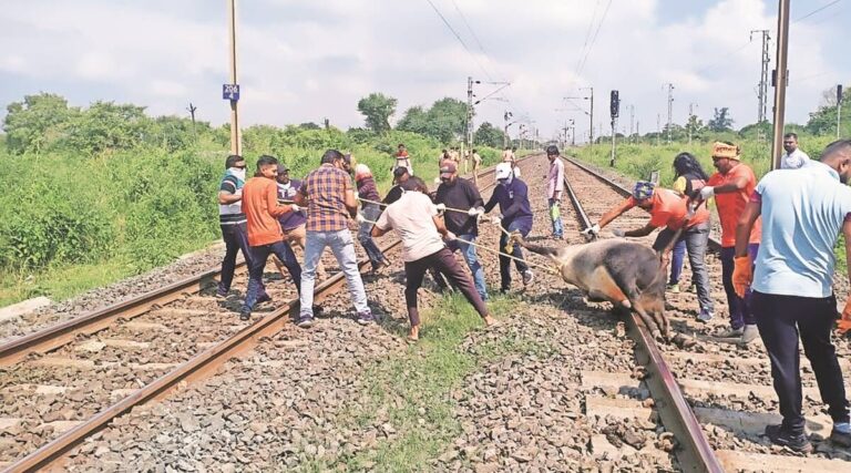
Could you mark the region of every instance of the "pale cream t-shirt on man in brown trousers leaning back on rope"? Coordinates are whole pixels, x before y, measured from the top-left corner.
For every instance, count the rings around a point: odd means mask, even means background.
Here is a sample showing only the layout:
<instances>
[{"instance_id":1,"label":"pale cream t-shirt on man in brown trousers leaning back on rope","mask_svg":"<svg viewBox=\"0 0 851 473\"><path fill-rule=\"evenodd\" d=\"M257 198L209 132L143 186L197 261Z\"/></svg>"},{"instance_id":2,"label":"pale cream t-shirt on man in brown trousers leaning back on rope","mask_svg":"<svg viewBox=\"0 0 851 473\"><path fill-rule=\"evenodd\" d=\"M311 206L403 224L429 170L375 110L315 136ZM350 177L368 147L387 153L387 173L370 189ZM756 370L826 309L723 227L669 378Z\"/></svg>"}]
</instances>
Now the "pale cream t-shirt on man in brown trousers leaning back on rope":
<instances>
[{"instance_id":1,"label":"pale cream t-shirt on man in brown trousers leaning back on rope","mask_svg":"<svg viewBox=\"0 0 851 473\"><path fill-rule=\"evenodd\" d=\"M438 208L429 196L406 192L390 204L376 226L385 232L394 229L402 239L402 260L410 263L433 255L445 246L432 217Z\"/></svg>"}]
</instances>

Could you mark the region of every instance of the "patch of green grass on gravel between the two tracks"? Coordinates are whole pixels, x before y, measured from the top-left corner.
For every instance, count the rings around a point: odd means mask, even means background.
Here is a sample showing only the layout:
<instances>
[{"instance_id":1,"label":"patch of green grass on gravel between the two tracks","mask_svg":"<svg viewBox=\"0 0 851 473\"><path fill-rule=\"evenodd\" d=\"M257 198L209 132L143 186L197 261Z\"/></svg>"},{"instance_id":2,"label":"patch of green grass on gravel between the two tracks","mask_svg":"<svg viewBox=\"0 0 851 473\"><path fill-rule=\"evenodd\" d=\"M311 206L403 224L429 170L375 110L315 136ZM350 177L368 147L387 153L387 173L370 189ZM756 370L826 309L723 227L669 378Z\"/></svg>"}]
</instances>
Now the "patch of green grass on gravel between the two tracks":
<instances>
[{"instance_id":1,"label":"patch of green grass on gravel between the two tracks","mask_svg":"<svg viewBox=\"0 0 851 473\"><path fill-rule=\"evenodd\" d=\"M489 308L496 318L517 311L517 299L495 297ZM376 450L330 461L308 461L305 471L321 472L339 467L348 471L432 471L439 457L462 433L454 417L454 390L483 363L495 362L510 353L555 354L554 348L541 341L511 335L499 342L462 348L473 332L483 330L473 308L460 296L445 297L424 311L420 341L401 357L375 362L363 374L367 380L366 402L348 415L351 426L363 428L376 422L376 413L387 411L387 422L399 432ZM398 328L399 336L407 327Z\"/></svg>"}]
</instances>

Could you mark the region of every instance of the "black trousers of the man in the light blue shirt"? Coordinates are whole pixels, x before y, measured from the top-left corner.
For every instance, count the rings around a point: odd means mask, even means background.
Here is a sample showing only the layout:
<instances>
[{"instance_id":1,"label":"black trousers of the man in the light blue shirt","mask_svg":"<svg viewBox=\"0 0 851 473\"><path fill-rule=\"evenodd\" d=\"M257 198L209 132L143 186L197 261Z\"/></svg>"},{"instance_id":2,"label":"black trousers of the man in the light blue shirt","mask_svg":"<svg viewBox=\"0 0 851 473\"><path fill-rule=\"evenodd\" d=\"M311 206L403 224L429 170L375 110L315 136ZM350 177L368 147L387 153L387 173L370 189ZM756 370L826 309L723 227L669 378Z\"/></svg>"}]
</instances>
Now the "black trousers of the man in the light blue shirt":
<instances>
[{"instance_id":1,"label":"black trousers of the man in the light blue shirt","mask_svg":"<svg viewBox=\"0 0 851 473\"><path fill-rule=\"evenodd\" d=\"M837 298L777 296L753 291L751 298L759 335L771 360L771 378L780 399L783 428L803 433L801 367L798 337L812 364L821 400L833 422L849 421L842 370L830 333L837 320Z\"/></svg>"}]
</instances>

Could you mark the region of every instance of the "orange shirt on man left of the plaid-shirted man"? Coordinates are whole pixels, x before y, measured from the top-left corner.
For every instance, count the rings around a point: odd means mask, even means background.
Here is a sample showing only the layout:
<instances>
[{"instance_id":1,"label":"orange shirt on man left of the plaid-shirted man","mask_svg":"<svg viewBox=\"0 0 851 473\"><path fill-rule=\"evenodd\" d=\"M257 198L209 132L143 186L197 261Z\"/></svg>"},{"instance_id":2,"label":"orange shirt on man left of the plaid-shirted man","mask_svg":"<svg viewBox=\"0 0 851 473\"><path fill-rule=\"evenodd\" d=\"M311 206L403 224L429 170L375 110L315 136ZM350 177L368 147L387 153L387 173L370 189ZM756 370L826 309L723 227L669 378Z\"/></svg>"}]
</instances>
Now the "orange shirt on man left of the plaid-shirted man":
<instances>
[{"instance_id":1,"label":"orange shirt on man left of the plaid-shirted man","mask_svg":"<svg viewBox=\"0 0 851 473\"><path fill-rule=\"evenodd\" d=\"M252 177L243 186L243 213L248 220L248 245L270 245L284 239L277 217L291 212L278 205L278 186L267 177Z\"/></svg>"}]
</instances>

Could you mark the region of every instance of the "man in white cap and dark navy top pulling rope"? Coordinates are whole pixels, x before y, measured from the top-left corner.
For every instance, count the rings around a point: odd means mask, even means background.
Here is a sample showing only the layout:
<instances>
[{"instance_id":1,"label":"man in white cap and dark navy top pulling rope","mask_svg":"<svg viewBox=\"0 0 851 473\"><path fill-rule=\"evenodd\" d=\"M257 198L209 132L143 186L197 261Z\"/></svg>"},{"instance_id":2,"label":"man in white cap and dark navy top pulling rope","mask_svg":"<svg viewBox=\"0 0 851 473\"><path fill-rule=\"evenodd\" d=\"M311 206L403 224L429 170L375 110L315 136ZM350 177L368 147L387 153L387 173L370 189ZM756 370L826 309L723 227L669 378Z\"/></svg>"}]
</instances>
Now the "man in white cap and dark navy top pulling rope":
<instances>
[{"instance_id":1,"label":"man in white cap and dark navy top pulling rope","mask_svg":"<svg viewBox=\"0 0 851 473\"><path fill-rule=\"evenodd\" d=\"M532 205L529 203L529 186L526 183L514 176L510 163L500 163L494 172L498 185L493 188L493 194L484 205L484 212L490 213L496 205L500 206L500 214L493 222L505 232L519 232L524 238L532 232ZM505 251L509 244L509 235L502 232L500 235L500 253ZM523 251L520 244L512 246L511 256L517 258L514 265L520 271L523 286L527 287L534 280L535 275L529 269L529 265L523 259ZM511 290L511 260L507 256L500 255L500 292Z\"/></svg>"}]
</instances>

